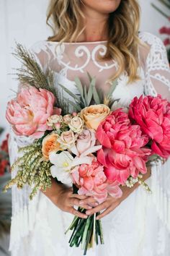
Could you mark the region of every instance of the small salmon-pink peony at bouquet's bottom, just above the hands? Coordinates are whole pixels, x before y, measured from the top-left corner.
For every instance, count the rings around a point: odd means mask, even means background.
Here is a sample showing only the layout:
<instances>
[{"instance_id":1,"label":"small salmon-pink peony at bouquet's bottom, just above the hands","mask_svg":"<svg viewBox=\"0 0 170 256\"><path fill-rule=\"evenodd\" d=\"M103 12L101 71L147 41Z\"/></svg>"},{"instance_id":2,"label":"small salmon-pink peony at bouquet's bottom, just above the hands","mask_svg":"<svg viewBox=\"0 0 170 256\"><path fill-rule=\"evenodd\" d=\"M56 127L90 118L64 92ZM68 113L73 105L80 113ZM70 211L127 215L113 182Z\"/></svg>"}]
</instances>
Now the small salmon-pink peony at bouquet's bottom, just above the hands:
<instances>
[{"instance_id":1,"label":"small salmon-pink peony at bouquet's bottom, just above the hands","mask_svg":"<svg viewBox=\"0 0 170 256\"><path fill-rule=\"evenodd\" d=\"M73 183L79 187L79 195L93 196L99 203L104 202L107 195L121 197L122 190L117 182L108 182L103 166L96 160L91 165L81 164L71 171Z\"/></svg>"}]
</instances>

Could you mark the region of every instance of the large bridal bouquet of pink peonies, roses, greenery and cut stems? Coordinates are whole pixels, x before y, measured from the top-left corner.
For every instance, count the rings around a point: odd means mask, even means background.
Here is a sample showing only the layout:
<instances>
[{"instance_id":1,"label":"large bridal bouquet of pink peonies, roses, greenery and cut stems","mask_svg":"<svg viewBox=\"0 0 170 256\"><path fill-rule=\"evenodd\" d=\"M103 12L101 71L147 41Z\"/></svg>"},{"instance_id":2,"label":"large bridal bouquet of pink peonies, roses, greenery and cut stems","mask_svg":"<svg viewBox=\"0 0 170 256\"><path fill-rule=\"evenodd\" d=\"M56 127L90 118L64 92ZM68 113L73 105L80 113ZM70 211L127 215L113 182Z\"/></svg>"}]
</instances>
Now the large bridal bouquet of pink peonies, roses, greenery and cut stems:
<instances>
[{"instance_id":1,"label":"large bridal bouquet of pink peonies, roses, greenery and cut stems","mask_svg":"<svg viewBox=\"0 0 170 256\"><path fill-rule=\"evenodd\" d=\"M26 86L9 101L6 119L16 135L35 140L19 149L12 166L18 169L17 176L4 190L29 184L32 199L38 189L51 186L53 176L56 182L73 186L74 193L93 196L99 203L107 195L121 197L121 186L132 187L136 182L150 191L142 179L147 164L170 154L170 103L161 95L141 96L133 99L129 109L112 110L117 82L102 95L89 73L88 89L79 77L75 79L79 95L60 85L68 99L54 89L52 73L44 74L21 45L17 56L26 66L19 70L19 80ZM86 212L81 207L79 211ZM68 228L70 246L81 244L84 255L94 242L104 243L98 214L86 219L75 216Z\"/></svg>"}]
</instances>

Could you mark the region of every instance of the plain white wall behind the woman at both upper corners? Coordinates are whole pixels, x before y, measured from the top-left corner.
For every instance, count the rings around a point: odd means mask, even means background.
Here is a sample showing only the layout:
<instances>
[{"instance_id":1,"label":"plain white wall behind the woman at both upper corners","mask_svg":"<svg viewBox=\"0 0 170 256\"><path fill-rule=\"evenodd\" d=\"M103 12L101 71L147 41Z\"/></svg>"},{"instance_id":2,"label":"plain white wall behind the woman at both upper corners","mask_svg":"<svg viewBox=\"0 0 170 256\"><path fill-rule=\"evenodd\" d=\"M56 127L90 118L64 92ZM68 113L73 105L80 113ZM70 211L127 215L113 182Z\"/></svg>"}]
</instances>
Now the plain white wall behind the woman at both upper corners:
<instances>
[{"instance_id":1,"label":"plain white wall behind the woman at both upper corners","mask_svg":"<svg viewBox=\"0 0 170 256\"><path fill-rule=\"evenodd\" d=\"M151 2L161 6L158 0L140 0L140 30L158 35L158 29L167 25L168 20L151 7ZM11 54L14 40L30 47L50 35L51 31L45 24L47 6L48 0L0 0L0 127L7 127L6 103L14 94L12 90L17 90L17 81L9 74L14 72L12 68L19 67L19 62ZM163 9L167 13L166 8Z\"/></svg>"}]
</instances>

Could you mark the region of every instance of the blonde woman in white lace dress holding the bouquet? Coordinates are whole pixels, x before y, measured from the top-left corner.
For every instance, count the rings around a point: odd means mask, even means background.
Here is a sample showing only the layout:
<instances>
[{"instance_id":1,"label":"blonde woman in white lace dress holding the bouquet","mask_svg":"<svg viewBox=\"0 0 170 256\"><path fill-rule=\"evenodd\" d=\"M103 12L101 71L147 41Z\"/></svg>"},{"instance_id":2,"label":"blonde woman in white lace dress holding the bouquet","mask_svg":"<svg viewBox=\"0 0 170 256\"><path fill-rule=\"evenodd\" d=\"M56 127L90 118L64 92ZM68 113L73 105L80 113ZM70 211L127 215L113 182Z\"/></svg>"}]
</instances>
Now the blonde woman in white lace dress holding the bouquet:
<instances>
[{"instance_id":1,"label":"blonde woman in white lace dress holding the bouquet","mask_svg":"<svg viewBox=\"0 0 170 256\"><path fill-rule=\"evenodd\" d=\"M143 93L170 99L170 72L166 49L149 33L138 33L139 7L136 0L53 0L48 20L53 18L53 36L32 46L42 69L52 69L55 84L77 93L74 77L88 84L86 71L97 77L97 86L107 92L110 81L118 85L112 95L120 106L128 106ZM103 58L104 57L104 58ZM11 133L10 157L30 143L27 137ZM169 161L153 166L144 176L153 194L143 187L124 188L120 199L108 197L97 205L92 197L73 195L56 184L39 192L31 202L30 189L12 188L13 216L9 249L12 256L82 255L81 249L68 246L64 231L73 215L86 218L102 210L104 245L89 250L89 256L168 256L170 252ZM164 170L163 170L164 168ZM14 172L15 174L15 172ZM12 174L12 175L14 175ZM89 208L93 203L94 208ZM86 214L74 206L83 205ZM73 215L72 215L72 214ZM104 217L104 218L103 218Z\"/></svg>"}]
</instances>

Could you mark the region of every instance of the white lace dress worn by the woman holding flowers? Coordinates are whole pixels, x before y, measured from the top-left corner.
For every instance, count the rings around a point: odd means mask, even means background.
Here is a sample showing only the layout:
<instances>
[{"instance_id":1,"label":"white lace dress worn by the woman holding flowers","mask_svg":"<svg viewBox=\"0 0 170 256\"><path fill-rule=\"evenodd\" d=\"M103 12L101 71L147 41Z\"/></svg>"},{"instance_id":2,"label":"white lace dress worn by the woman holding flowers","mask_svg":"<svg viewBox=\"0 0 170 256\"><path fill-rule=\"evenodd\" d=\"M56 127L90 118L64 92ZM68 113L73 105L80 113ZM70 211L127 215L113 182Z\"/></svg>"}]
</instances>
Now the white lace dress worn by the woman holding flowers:
<instances>
[{"instance_id":1,"label":"white lace dress worn by the woman holding flowers","mask_svg":"<svg viewBox=\"0 0 170 256\"><path fill-rule=\"evenodd\" d=\"M122 106L128 106L135 96L143 93L160 93L170 99L170 72L166 49L160 39L149 33L139 33L143 45L138 54L140 80L127 84L128 75L118 79L114 98L120 98ZM147 45L147 47L146 47ZM98 61L107 41L63 43L39 41L31 51L40 61L42 69L53 69L55 85L58 83L77 93L74 77L79 76L84 85L89 80L86 71L97 77L97 86L108 90L107 79L117 69L117 62ZM27 137L10 135L10 159L17 158L17 148L30 143ZM17 170L16 170L17 171ZM12 173L15 175L16 171ZM112 213L102 219L104 245L90 249L88 256L169 256L170 255L170 161L164 166L154 166L147 180L152 194L139 187L135 189ZM64 231L73 216L62 212L39 192L30 201L29 187L12 188L12 227L9 249L12 256L80 256L79 248L68 246Z\"/></svg>"}]
</instances>

